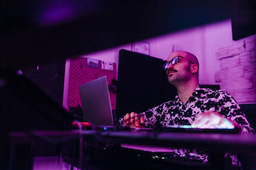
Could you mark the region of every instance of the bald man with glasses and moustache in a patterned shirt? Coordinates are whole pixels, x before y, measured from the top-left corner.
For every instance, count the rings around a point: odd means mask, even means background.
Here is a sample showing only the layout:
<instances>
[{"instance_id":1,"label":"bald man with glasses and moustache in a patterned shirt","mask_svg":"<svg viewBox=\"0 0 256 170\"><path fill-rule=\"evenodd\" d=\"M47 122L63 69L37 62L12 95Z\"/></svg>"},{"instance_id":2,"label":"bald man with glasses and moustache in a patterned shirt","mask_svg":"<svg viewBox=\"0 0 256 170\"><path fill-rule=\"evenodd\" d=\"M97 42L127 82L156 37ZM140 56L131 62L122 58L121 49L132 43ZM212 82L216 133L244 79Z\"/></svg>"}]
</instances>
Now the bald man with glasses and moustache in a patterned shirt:
<instances>
[{"instance_id":1,"label":"bald man with glasses and moustache in a patterned shirt","mask_svg":"<svg viewBox=\"0 0 256 170\"><path fill-rule=\"evenodd\" d=\"M178 95L172 101L137 114L131 112L120 119L120 124L133 127L161 127L168 125L191 125L200 128L236 127L242 132L252 132L239 105L224 90L211 90L198 86L198 58L186 51L174 51L164 64L170 84ZM200 151L173 149L177 156L208 162L208 156ZM239 166L235 155L225 154L230 164Z\"/></svg>"}]
</instances>

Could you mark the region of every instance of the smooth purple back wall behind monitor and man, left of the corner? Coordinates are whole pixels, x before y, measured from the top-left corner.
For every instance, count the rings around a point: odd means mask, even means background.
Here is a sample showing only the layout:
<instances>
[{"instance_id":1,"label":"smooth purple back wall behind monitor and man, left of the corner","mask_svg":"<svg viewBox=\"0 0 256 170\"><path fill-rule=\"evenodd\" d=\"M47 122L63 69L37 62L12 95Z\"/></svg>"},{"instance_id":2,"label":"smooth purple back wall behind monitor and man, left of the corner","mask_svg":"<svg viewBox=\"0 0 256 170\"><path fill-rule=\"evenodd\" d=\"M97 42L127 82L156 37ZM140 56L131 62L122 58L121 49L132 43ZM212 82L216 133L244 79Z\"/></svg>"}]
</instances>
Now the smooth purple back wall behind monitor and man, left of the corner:
<instances>
[{"instance_id":1,"label":"smooth purple back wall behind monitor and man, left of the corner","mask_svg":"<svg viewBox=\"0 0 256 170\"><path fill-rule=\"evenodd\" d=\"M193 29L186 29L181 32L175 32L174 34L167 34L157 38L150 38L145 40L149 42L150 56L156 58L162 58L167 60L169 54L176 49L190 51L198 56L200 62L200 83L205 84L206 77L203 73L205 72L204 66L204 27L195 27ZM121 45L105 51L98 51L96 53L85 54L81 57L95 58L98 60L104 60L109 62L116 62L118 69L118 54L120 49L132 50L132 45ZM69 89L69 76L70 76L70 60L66 62L65 69L65 83L63 93L63 107L68 109L68 89Z\"/></svg>"}]
</instances>

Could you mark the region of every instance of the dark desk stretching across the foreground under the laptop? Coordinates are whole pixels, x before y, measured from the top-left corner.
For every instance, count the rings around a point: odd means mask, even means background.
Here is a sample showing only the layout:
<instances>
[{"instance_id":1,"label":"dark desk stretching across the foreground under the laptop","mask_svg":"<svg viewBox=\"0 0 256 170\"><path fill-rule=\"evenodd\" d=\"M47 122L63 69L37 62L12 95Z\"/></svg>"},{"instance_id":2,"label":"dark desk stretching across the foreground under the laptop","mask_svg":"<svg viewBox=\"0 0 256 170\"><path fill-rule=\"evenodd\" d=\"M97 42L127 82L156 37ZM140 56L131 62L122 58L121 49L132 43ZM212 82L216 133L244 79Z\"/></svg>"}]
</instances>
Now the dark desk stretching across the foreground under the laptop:
<instances>
[{"instance_id":1,"label":"dark desk stretching across the foreground under the laptop","mask_svg":"<svg viewBox=\"0 0 256 170\"><path fill-rule=\"evenodd\" d=\"M156 147L184 147L209 149L213 154L220 155L224 151L235 151L237 154L254 154L256 151L256 134L202 134L182 132L146 132L146 131L94 131L78 130L66 132L32 132L38 138L34 138L23 132L10 133L12 143L12 156L15 158L15 146L19 144L41 145L45 143L42 139L54 138L58 143L68 139L78 138L81 134L85 137L92 137L100 143L126 143L132 145L149 145ZM27 145L28 146L28 145ZM28 147L27 149L30 149ZM103 156L104 157L104 156ZM12 159L12 163L15 159ZM217 165L221 167L222 164ZM15 167L12 167L15 169Z\"/></svg>"}]
</instances>

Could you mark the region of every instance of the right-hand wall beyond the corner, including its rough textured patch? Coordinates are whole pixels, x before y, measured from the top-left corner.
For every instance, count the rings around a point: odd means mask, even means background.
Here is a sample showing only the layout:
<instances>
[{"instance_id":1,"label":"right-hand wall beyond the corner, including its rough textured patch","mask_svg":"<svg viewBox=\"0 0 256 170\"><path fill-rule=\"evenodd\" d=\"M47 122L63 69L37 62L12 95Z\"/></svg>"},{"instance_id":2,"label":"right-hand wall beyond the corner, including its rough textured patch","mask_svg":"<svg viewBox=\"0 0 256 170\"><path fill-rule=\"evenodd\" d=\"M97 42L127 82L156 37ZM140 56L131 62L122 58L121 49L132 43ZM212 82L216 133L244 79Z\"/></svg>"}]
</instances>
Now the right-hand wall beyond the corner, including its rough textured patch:
<instances>
[{"instance_id":1,"label":"right-hand wall beyond the corner, including its rough textured patch","mask_svg":"<svg viewBox=\"0 0 256 170\"><path fill-rule=\"evenodd\" d=\"M232 40L231 20L205 26L207 82L220 84L238 104L256 103L255 40L256 35Z\"/></svg>"}]
</instances>

